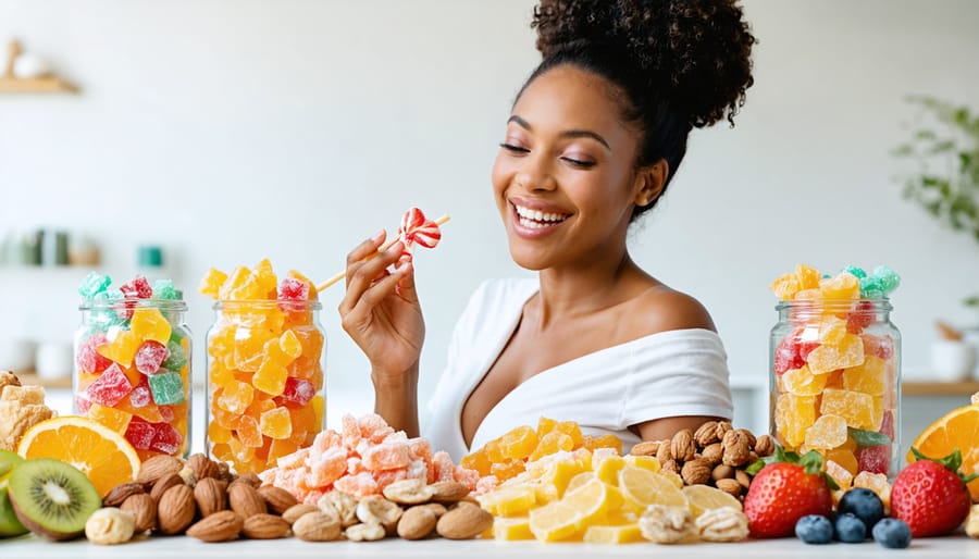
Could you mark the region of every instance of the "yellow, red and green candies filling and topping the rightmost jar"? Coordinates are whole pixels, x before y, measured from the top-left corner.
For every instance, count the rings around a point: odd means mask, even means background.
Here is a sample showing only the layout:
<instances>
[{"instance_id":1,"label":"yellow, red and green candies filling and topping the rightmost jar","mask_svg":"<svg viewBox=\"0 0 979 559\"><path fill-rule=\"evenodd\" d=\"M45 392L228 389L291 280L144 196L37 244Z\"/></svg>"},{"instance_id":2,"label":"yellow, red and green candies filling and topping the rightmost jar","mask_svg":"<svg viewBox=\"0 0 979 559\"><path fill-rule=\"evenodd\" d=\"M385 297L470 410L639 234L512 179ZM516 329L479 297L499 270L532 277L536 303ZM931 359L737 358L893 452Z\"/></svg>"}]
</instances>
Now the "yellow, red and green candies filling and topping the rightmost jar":
<instances>
[{"instance_id":1,"label":"yellow, red and green candies filling and topping the rightmost jar","mask_svg":"<svg viewBox=\"0 0 979 559\"><path fill-rule=\"evenodd\" d=\"M793 301L773 340L773 434L789 450L822 454L843 489L860 472L892 473L897 351L878 306L899 284L885 266L827 276L798 264L770 286Z\"/></svg>"}]
</instances>

